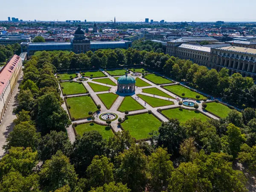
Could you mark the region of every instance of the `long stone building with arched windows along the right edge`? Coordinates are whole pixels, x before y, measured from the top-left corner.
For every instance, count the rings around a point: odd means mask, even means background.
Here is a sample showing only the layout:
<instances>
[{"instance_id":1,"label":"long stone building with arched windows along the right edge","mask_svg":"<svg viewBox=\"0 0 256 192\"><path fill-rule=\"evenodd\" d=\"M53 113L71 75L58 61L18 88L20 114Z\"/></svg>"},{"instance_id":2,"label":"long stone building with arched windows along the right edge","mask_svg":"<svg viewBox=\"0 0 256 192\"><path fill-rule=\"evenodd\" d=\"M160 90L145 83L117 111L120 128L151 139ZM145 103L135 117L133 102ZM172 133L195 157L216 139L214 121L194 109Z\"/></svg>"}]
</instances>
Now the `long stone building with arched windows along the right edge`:
<instances>
[{"instance_id":1,"label":"long stone building with arched windows along the right edge","mask_svg":"<svg viewBox=\"0 0 256 192\"><path fill-rule=\"evenodd\" d=\"M222 47L224 46L224 47ZM230 75L241 73L256 80L256 49L235 47L229 45L214 45L210 47L167 42L166 53L216 70L226 67Z\"/></svg>"}]
</instances>

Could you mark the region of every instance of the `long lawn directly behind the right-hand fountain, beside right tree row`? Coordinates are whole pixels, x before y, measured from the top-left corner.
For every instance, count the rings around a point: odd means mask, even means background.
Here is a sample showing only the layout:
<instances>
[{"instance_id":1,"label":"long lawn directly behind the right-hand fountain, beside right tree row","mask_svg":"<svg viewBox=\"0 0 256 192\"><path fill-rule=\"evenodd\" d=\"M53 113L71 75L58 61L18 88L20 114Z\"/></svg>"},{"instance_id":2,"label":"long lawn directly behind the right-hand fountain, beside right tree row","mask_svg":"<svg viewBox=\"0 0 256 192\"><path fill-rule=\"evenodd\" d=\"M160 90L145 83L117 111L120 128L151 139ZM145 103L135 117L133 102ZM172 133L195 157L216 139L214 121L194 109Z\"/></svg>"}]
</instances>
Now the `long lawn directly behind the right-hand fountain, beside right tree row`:
<instances>
[{"instance_id":1,"label":"long lawn directly behind the right-hand fountain, beside right tree row","mask_svg":"<svg viewBox=\"0 0 256 192\"><path fill-rule=\"evenodd\" d=\"M182 93L185 93L185 98L190 98L190 99L196 99L196 95L200 95L199 99L203 99L204 96L196 93L195 91L192 91L186 87L183 87L181 85L175 84L175 85L169 85L169 86L165 86L164 88L166 88L167 90L173 92L174 94L176 94L177 96L182 97Z\"/></svg>"}]
</instances>

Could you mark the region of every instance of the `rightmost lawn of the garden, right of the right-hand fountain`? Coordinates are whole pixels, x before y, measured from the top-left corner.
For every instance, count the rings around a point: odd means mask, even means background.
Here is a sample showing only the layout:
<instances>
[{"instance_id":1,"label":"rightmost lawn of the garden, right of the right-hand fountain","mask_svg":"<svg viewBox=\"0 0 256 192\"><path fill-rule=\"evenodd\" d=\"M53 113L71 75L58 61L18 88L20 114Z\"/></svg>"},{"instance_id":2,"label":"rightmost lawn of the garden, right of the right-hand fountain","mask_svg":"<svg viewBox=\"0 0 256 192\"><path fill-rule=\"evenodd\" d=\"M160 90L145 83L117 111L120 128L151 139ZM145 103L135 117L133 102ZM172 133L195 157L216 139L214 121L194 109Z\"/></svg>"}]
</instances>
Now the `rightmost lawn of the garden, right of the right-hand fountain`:
<instances>
[{"instance_id":1,"label":"rightmost lawn of the garden, right of the right-hand fountain","mask_svg":"<svg viewBox=\"0 0 256 192\"><path fill-rule=\"evenodd\" d=\"M221 118L227 117L228 113L232 111L232 109L226 105L217 102L207 103L206 110L220 116Z\"/></svg>"}]
</instances>

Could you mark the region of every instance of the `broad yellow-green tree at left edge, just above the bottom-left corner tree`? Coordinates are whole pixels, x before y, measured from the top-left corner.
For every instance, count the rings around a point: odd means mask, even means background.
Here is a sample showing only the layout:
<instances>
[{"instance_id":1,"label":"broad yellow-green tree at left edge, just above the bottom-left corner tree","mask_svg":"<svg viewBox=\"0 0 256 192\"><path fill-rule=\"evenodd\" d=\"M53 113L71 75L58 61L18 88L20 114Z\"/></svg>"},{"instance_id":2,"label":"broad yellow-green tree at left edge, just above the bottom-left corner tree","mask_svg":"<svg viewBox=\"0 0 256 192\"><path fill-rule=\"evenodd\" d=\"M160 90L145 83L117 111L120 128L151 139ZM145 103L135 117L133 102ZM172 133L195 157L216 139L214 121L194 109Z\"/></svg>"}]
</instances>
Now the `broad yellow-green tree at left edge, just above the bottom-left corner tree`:
<instances>
[{"instance_id":1,"label":"broad yellow-green tree at left edge, just above the bottom-left corner tree","mask_svg":"<svg viewBox=\"0 0 256 192\"><path fill-rule=\"evenodd\" d=\"M17 171L26 177L31 174L32 168L38 163L37 151L31 148L12 147L9 153L0 160L0 178L10 171Z\"/></svg>"}]
</instances>

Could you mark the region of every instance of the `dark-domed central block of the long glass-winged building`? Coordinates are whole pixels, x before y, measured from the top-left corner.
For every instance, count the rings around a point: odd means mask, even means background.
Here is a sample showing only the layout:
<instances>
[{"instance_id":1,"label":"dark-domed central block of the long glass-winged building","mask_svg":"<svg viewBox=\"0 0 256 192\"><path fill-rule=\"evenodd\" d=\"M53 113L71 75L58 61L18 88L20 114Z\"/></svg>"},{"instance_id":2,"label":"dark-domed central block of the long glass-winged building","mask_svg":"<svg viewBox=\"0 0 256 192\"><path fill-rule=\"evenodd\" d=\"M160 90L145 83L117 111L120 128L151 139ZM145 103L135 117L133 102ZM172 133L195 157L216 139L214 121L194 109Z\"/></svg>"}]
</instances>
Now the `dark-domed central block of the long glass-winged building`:
<instances>
[{"instance_id":1,"label":"dark-domed central block of the long glass-winged building","mask_svg":"<svg viewBox=\"0 0 256 192\"><path fill-rule=\"evenodd\" d=\"M72 41L73 52L81 53L90 51L90 40L86 39L84 34L84 30L81 28L81 25L79 25Z\"/></svg>"}]
</instances>

